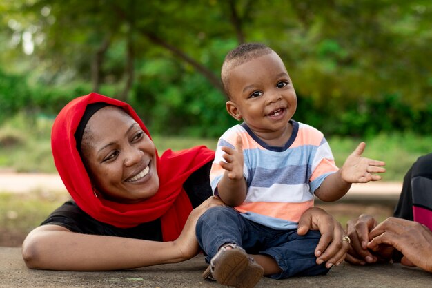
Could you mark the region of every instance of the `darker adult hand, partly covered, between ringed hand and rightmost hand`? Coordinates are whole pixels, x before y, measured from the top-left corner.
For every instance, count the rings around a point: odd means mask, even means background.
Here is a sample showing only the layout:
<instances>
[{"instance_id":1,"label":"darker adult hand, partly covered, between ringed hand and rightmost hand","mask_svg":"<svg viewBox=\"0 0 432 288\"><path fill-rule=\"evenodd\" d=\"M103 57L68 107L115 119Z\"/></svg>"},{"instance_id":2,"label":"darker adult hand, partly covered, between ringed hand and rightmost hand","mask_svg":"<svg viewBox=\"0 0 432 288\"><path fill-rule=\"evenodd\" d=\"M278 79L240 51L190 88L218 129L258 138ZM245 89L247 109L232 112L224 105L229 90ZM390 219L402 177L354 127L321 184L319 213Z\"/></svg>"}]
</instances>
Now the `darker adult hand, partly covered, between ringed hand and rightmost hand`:
<instances>
[{"instance_id":1,"label":"darker adult hand, partly covered, between ringed hand and rightmost hand","mask_svg":"<svg viewBox=\"0 0 432 288\"><path fill-rule=\"evenodd\" d=\"M358 218L349 220L346 223L346 231L351 239L346 262L354 265L365 265L367 263L377 262L375 256L367 248L369 242L369 232L377 226L377 221L370 215L362 214Z\"/></svg>"}]
</instances>

